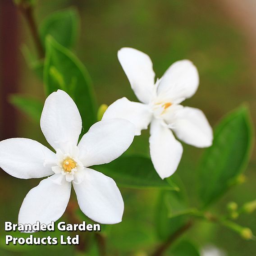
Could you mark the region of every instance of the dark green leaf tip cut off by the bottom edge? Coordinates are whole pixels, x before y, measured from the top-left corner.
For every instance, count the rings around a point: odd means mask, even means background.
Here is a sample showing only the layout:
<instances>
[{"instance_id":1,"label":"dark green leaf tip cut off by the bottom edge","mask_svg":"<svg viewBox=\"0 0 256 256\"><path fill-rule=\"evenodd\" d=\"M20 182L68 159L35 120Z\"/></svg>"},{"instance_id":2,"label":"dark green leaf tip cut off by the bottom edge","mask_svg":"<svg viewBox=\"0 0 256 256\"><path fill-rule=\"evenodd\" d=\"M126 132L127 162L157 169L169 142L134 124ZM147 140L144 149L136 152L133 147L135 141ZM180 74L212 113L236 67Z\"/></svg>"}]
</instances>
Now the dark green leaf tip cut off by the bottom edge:
<instances>
[{"instance_id":1,"label":"dark green leaf tip cut off by the bottom edge","mask_svg":"<svg viewBox=\"0 0 256 256\"><path fill-rule=\"evenodd\" d=\"M190 241L183 240L171 250L171 256L200 256L198 248Z\"/></svg>"}]
</instances>

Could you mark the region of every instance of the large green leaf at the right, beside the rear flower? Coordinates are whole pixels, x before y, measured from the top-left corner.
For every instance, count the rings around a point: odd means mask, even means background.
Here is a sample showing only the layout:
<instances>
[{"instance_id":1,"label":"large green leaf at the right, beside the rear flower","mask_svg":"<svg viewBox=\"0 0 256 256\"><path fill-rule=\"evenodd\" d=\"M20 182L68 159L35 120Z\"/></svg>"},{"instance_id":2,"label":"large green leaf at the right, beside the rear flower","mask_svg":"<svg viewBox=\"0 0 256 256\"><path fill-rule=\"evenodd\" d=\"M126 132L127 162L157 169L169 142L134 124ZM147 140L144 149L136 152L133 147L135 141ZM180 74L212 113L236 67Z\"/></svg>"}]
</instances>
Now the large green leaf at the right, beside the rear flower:
<instances>
[{"instance_id":1,"label":"large green leaf at the right, beside the rear flower","mask_svg":"<svg viewBox=\"0 0 256 256\"><path fill-rule=\"evenodd\" d=\"M217 126L213 145L206 149L199 167L203 206L219 198L247 167L253 136L246 106L226 116Z\"/></svg>"}]
</instances>

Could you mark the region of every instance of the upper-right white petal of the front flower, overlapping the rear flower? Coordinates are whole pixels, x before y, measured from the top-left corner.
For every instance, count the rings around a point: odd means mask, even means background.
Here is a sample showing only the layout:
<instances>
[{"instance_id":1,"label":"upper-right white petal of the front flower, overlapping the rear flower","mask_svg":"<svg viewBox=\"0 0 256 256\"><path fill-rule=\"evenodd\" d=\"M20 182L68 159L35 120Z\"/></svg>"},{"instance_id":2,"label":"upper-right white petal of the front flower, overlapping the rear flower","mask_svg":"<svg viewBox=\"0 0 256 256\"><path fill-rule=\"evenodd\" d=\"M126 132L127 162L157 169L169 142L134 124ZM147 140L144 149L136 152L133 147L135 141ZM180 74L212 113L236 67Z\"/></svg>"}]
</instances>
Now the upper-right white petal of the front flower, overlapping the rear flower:
<instances>
[{"instance_id":1,"label":"upper-right white petal of the front flower, overlapping the rear flower","mask_svg":"<svg viewBox=\"0 0 256 256\"><path fill-rule=\"evenodd\" d=\"M133 142L135 125L125 119L102 120L91 126L78 144L84 166L102 165L123 154Z\"/></svg>"}]
</instances>

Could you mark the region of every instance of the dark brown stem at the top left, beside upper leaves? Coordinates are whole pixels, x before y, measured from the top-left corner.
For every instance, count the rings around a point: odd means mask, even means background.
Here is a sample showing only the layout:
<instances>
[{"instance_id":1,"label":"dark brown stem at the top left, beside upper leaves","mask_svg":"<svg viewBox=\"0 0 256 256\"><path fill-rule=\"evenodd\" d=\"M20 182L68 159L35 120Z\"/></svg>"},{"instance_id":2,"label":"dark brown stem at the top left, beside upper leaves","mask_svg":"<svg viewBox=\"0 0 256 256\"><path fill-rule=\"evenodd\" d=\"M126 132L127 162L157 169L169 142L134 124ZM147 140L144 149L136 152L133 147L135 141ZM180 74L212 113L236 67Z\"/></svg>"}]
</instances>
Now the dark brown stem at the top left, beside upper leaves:
<instances>
[{"instance_id":1,"label":"dark brown stem at the top left, beside upper leaves","mask_svg":"<svg viewBox=\"0 0 256 256\"><path fill-rule=\"evenodd\" d=\"M20 5L18 5L21 13L23 14L24 18L27 21L28 27L30 29L30 32L32 34L35 46L37 47L38 56L40 59L44 58L45 51L41 44L41 40L37 31L37 25L34 18L34 10L32 5L26 5L26 3L21 2Z\"/></svg>"}]
</instances>

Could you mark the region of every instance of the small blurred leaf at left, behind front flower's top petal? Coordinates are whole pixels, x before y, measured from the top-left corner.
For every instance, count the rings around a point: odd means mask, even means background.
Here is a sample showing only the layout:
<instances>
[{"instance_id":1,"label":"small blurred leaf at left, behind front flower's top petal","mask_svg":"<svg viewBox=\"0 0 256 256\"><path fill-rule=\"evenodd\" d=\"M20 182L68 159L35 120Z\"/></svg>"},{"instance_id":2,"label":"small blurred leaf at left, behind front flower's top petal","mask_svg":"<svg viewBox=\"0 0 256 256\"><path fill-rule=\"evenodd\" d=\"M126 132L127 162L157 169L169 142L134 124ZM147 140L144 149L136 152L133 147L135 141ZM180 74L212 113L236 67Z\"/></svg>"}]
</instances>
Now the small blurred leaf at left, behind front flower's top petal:
<instances>
[{"instance_id":1,"label":"small blurred leaf at left, behind front flower's top petal","mask_svg":"<svg viewBox=\"0 0 256 256\"><path fill-rule=\"evenodd\" d=\"M13 94L9 101L23 113L27 114L33 121L39 123L43 110L43 103L35 98Z\"/></svg>"}]
</instances>

